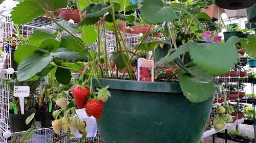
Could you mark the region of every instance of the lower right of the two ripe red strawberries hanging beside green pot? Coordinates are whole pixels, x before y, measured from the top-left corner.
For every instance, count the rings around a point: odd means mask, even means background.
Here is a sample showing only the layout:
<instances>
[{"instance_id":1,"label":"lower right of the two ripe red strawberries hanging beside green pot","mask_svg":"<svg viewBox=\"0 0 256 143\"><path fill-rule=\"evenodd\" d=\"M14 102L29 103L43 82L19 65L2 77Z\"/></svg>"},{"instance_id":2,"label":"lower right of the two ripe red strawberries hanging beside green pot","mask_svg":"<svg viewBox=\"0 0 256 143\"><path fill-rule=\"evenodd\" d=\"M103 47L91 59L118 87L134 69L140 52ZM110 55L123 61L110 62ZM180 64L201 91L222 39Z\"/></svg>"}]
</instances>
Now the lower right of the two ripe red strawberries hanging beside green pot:
<instances>
[{"instance_id":1,"label":"lower right of the two ripe red strawberries hanging beside green pot","mask_svg":"<svg viewBox=\"0 0 256 143\"><path fill-rule=\"evenodd\" d=\"M86 103L86 109L96 119L100 119L103 112L103 102L99 100L90 100Z\"/></svg>"}]
</instances>

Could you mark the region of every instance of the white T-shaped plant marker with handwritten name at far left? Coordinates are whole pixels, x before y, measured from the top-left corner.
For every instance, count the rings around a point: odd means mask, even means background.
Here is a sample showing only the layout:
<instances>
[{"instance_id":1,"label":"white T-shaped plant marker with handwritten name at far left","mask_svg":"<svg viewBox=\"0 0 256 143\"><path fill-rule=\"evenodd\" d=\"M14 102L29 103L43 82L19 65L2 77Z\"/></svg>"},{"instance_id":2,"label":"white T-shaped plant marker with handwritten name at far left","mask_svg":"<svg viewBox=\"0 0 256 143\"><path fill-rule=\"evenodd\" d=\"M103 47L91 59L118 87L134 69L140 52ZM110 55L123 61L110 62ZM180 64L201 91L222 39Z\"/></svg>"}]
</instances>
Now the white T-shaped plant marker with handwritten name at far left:
<instances>
[{"instance_id":1,"label":"white T-shaped plant marker with handwritten name at far left","mask_svg":"<svg viewBox=\"0 0 256 143\"><path fill-rule=\"evenodd\" d=\"M24 97L29 97L29 90L28 86L14 86L13 88L13 96L19 98L22 114L24 114Z\"/></svg>"}]
</instances>

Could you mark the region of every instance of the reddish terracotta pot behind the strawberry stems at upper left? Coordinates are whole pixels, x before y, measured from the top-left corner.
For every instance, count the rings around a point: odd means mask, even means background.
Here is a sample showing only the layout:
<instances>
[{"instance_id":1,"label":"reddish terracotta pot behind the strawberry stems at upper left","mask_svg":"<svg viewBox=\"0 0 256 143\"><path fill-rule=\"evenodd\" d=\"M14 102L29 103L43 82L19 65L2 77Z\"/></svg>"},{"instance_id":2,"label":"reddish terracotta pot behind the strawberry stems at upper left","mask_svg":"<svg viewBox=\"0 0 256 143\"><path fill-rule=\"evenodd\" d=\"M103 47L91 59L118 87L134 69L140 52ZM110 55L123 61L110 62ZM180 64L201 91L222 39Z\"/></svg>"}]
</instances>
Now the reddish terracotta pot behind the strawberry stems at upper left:
<instances>
[{"instance_id":1,"label":"reddish terracotta pot behind the strawberry stems at upper left","mask_svg":"<svg viewBox=\"0 0 256 143\"><path fill-rule=\"evenodd\" d=\"M70 19L74 20L75 23L79 23L80 16L78 9L62 9L60 13L63 20L69 21ZM86 13L82 13L82 18L86 17Z\"/></svg>"}]
</instances>

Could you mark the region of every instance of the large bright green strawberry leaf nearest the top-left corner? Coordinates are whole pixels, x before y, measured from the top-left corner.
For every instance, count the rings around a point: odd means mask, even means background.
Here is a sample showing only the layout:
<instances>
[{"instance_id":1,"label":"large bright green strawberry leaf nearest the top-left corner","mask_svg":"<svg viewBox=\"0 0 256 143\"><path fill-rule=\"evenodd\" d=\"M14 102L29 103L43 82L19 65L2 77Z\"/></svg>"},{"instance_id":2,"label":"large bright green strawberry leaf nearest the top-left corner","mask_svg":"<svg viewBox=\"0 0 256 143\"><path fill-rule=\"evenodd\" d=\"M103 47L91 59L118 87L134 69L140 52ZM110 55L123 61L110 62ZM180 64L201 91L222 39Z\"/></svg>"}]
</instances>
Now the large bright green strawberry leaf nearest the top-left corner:
<instances>
[{"instance_id":1,"label":"large bright green strawberry leaf nearest the top-left corner","mask_svg":"<svg viewBox=\"0 0 256 143\"><path fill-rule=\"evenodd\" d=\"M16 24L26 24L38 16L44 15L43 0L22 1L11 12L12 21ZM44 7L46 5L44 4Z\"/></svg>"}]
</instances>

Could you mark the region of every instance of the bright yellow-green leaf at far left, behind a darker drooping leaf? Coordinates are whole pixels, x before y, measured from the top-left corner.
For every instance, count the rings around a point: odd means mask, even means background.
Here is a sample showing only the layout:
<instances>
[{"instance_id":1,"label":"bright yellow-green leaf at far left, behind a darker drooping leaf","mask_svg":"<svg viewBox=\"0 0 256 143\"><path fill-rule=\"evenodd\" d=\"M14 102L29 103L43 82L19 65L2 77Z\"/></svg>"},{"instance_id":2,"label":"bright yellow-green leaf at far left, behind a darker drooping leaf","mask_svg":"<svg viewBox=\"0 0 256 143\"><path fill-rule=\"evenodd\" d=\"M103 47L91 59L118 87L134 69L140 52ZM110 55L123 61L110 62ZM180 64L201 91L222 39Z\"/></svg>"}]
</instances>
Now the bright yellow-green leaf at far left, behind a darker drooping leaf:
<instances>
[{"instance_id":1,"label":"bright yellow-green leaf at far left, behind a darker drooping leaf","mask_svg":"<svg viewBox=\"0 0 256 143\"><path fill-rule=\"evenodd\" d=\"M29 56L35 54L35 53L46 53L44 50L41 50L40 48L34 46L34 45L20 45L16 49L14 53L14 59L15 61L20 64L23 60L28 58Z\"/></svg>"}]
</instances>

